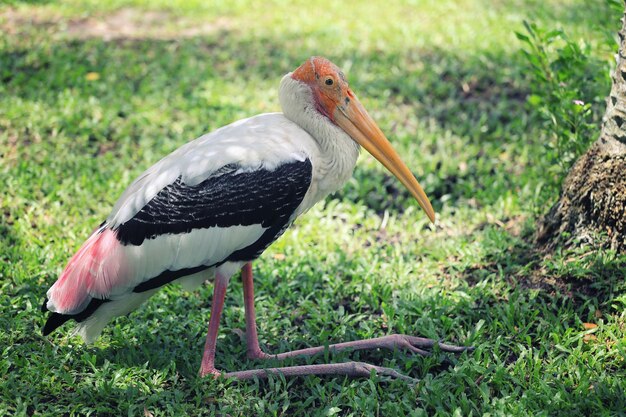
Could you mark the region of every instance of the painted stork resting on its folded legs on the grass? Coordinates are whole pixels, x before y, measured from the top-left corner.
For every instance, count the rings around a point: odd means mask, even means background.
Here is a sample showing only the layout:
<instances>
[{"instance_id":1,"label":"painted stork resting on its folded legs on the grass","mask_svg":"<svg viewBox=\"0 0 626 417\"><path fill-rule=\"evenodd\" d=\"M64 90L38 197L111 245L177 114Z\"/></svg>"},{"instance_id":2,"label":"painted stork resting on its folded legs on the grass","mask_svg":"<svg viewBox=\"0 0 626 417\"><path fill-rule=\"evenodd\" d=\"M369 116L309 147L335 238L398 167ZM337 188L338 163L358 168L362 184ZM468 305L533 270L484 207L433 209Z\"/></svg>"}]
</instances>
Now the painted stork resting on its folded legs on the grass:
<instances>
[{"instance_id":1,"label":"painted stork resting on its folded legs on the grass","mask_svg":"<svg viewBox=\"0 0 626 417\"><path fill-rule=\"evenodd\" d=\"M43 309L49 334L68 320L94 341L114 317L129 313L162 286L187 289L214 276L213 302L200 375L219 375L215 345L226 287L242 271L247 353L282 359L325 349L402 348L418 354L438 344L390 335L278 355L264 353L257 338L252 261L293 221L338 190L352 175L360 147L391 171L431 221L433 208L417 180L368 115L341 70L312 57L280 83L283 113L261 114L187 143L139 176L113 211L70 259L47 292ZM343 374L371 371L404 377L361 362L268 368L229 377Z\"/></svg>"}]
</instances>

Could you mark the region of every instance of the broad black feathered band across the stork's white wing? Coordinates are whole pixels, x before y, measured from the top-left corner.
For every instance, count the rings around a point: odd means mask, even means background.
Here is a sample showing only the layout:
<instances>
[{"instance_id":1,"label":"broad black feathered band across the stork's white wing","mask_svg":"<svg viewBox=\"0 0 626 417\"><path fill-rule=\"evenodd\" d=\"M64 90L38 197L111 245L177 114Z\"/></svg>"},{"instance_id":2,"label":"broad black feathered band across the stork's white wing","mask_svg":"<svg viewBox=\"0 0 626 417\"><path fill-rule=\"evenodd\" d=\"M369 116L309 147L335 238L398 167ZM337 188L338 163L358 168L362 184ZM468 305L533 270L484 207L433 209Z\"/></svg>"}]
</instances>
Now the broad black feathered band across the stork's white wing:
<instances>
[{"instance_id":1,"label":"broad black feathered band across the stork's white wing","mask_svg":"<svg viewBox=\"0 0 626 417\"><path fill-rule=\"evenodd\" d=\"M163 234L209 227L282 228L311 184L311 161L292 161L274 170L227 165L197 185L179 177L117 229L124 245L141 245Z\"/></svg>"}]
</instances>

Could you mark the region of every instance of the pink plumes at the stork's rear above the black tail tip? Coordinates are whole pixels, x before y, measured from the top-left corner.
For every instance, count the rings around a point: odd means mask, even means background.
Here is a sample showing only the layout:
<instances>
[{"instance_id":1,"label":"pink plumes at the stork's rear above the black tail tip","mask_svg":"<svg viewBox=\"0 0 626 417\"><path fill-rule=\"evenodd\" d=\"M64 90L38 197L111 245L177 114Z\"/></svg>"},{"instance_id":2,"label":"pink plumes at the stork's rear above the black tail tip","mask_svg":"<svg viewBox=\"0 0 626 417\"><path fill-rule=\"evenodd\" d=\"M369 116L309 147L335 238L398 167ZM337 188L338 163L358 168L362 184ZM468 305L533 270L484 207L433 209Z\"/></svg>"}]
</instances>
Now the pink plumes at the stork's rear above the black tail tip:
<instances>
[{"instance_id":1,"label":"pink plumes at the stork's rear above the black tail tip","mask_svg":"<svg viewBox=\"0 0 626 417\"><path fill-rule=\"evenodd\" d=\"M123 246L103 226L70 259L48 290L48 310L61 314L82 311L92 298L105 299L127 276Z\"/></svg>"}]
</instances>

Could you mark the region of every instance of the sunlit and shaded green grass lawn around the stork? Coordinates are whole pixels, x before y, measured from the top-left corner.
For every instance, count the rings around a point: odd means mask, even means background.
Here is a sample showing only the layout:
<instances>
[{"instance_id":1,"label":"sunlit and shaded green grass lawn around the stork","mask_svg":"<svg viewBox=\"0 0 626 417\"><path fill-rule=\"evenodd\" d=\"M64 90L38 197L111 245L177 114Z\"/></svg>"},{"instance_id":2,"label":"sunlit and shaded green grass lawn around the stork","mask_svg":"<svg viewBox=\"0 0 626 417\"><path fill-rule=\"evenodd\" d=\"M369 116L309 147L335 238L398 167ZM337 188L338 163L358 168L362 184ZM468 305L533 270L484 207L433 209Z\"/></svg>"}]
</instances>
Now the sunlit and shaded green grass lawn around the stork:
<instances>
[{"instance_id":1,"label":"sunlit and shaded green grass lawn around the stork","mask_svg":"<svg viewBox=\"0 0 626 417\"><path fill-rule=\"evenodd\" d=\"M526 101L542 86L514 34L529 20L589 44L590 68L604 70L581 99L599 123L619 11L556 0L211 3L0 8L0 415L624 413L626 258L534 248L562 170L546 158L550 132ZM97 20L108 26L89 29ZM262 346L400 332L476 350L288 362L357 358L419 378L413 387L199 379L210 284L164 289L93 346L69 326L42 337L45 291L132 179L204 132L278 110L280 77L314 54L347 72L439 222L363 156L343 190L256 262ZM238 335L239 279L226 303L217 366L264 366L245 359Z\"/></svg>"}]
</instances>

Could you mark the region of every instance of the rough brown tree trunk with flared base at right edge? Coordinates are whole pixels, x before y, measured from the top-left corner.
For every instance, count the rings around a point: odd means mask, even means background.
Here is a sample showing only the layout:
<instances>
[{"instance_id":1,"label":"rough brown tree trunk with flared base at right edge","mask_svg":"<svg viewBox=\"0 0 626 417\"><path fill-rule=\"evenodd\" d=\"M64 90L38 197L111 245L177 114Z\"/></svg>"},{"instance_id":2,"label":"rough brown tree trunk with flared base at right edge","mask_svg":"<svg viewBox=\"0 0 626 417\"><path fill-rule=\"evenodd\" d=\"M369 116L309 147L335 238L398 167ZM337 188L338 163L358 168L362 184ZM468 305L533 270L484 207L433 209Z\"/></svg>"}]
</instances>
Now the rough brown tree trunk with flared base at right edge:
<instances>
[{"instance_id":1,"label":"rough brown tree trunk with flared base at right edge","mask_svg":"<svg viewBox=\"0 0 626 417\"><path fill-rule=\"evenodd\" d=\"M603 234L604 245L626 251L626 15L619 40L600 137L576 161L559 201L541 221L542 245L596 242Z\"/></svg>"}]
</instances>

